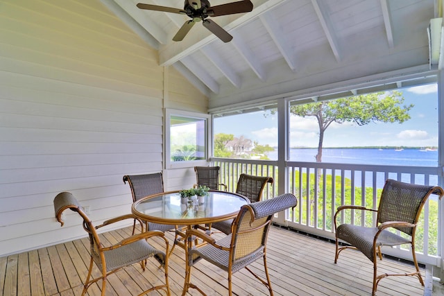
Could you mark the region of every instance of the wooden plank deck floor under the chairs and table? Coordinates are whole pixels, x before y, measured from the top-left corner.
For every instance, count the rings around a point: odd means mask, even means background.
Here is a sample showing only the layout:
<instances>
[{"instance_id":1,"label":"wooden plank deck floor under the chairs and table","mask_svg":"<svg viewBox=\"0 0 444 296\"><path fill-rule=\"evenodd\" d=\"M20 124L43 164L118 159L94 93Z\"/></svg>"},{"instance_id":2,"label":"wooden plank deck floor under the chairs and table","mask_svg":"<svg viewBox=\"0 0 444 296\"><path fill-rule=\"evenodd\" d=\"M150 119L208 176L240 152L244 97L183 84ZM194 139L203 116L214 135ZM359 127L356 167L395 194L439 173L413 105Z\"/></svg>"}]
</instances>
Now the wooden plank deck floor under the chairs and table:
<instances>
[{"instance_id":1,"label":"wooden plank deck floor under the chairs and table","mask_svg":"<svg viewBox=\"0 0 444 296\"><path fill-rule=\"evenodd\" d=\"M108 241L130 234L120 229L104 234ZM168 234L173 238L172 234ZM0 295L80 295L89 263L87 238L44 247L0 258ZM176 247L169 261L169 280L172 295L181 295L185 274L185 252ZM373 268L359 252L344 251L334 264L334 244L272 227L268 236L268 271L275 295L370 295ZM155 262L155 261L153 261ZM262 261L253 263L257 270ZM381 271L413 270L412 265L384 259ZM193 269L193 282L208 295L227 295L225 272L200 261ZM425 272L422 272L424 275ZM148 281L146 280L148 279ZM107 295L137 295L139 285L156 284L162 271L155 263L148 263L142 272L139 264L130 266L109 277ZM246 270L234 275L235 295L268 295L268 291ZM89 295L100 295L99 286L89 288ZM190 290L189 295L198 295ZM155 292L152 295L159 295ZM413 277L383 279L377 295L424 295L424 288ZM435 294L434 294L435 295Z\"/></svg>"}]
</instances>

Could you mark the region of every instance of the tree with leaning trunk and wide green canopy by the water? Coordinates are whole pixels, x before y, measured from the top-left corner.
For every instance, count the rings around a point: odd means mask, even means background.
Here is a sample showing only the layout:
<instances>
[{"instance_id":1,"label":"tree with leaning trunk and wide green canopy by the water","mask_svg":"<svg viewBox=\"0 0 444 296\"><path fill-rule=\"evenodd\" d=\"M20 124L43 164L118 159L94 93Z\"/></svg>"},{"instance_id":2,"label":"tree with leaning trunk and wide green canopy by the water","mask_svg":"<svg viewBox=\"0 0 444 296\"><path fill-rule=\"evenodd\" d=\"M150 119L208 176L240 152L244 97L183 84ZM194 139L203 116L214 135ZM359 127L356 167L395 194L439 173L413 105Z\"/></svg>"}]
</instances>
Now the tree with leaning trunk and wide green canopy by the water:
<instances>
[{"instance_id":1,"label":"tree with leaning trunk and wide green canopy by the water","mask_svg":"<svg viewBox=\"0 0 444 296\"><path fill-rule=\"evenodd\" d=\"M318 153L316 162L322 162L322 148L325 130L332 123L355 122L366 125L370 122L403 123L410 119L409 110L413 105L403 105L401 92L377 92L339 98L334 101L291 106L296 116L314 116L319 126Z\"/></svg>"}]
</instances>

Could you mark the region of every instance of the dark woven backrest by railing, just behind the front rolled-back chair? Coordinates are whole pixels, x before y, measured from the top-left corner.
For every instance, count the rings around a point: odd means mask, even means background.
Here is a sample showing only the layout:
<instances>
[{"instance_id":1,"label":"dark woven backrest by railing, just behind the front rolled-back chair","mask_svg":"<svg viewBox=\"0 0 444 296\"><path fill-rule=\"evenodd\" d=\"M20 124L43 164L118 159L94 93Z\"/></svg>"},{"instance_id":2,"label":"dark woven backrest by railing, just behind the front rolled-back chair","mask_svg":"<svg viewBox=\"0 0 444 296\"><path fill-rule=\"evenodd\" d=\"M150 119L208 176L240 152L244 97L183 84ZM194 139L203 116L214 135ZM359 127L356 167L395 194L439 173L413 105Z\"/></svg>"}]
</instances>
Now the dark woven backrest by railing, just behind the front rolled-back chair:
<instances>
[{"instance_id":1,"label":"dark woven backrest by railing, just behind the front rolled-back chair","mask_svg":"<svg viewBox=\"0 0 444 296\"><path fill-rule=\"evenodd\" d=\"M262 200L262 191L267 183L273 184L273 178L242 173L237 181L236 193L244 195L250 202L258 202Z\"/></svg>"}]
</instances>

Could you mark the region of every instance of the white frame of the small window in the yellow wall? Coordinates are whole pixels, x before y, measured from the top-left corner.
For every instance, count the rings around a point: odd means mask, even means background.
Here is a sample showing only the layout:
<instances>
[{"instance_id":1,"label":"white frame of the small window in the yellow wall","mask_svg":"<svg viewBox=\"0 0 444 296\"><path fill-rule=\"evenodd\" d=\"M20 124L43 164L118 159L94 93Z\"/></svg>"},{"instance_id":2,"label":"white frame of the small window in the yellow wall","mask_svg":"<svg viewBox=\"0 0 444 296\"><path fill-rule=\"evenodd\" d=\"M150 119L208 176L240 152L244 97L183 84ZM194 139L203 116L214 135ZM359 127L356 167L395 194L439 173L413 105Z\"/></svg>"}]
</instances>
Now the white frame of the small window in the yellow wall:
<instances>
[{"instance_id":1,"label":"white frame of the small window in the yellow wall","mask_svg":"<svg viewBox=\"0 0 444 296\"><path fill-rule=\"evenodd\" d=\"M205 159L196 159L196 160L185 160L181 162L172 162L171 161L171 116L179 116L185 117L189 119L198 119L205 121L204 128L204 153ZM190 112L183 110L175 110L175 109L165 109L164 114L164 164L165 169L169 168L188 168L191 166L200 166L204 165L210 159L210 152L212 151L212 143L210 142L211 133L212 133L212 116L210 114L198 113L198 112Z\"/></svg>"}]
</instances>

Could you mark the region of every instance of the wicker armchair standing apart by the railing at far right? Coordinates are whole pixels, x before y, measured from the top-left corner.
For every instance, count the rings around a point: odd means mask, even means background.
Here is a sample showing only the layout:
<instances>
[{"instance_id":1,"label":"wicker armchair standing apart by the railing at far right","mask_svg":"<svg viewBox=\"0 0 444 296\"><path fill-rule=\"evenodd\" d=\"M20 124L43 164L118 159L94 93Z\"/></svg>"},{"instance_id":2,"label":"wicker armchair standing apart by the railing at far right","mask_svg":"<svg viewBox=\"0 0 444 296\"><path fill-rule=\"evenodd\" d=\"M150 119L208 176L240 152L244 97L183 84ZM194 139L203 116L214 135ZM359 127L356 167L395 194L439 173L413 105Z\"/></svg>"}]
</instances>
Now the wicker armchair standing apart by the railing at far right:
<instances>
[{"instance_id":1,"label":"wicker armchair standing apart by the railing at far right","mask_svg":"<svg viewBox=\"0 0 444 296\"><path fill-rule=\"evenodd\" d=\"M338 207L334 214L334 229L336 232L336 254L334 263L337 263L339 253L345 249L352 248L359 250L373 262L373 289L372 295L375 295L377 284L381 279L388 276L416 276L420 284L424 286L421 273L416 261L415 254L415 233L416 226L422 207L429 195L436 194L439 198L444 194L439 186L425 186L409 184L388 179L382 189L381 199L378 209L368 209L361 206L344 205ZM345 209L359 210L364 216L364 211L373 211L377 213L376 227L364 227L361 225L341 224L337 225L337 217ZM390 229L396 232L391 232ZM398 233L397 233L398 232ZM402 232L405 235L400 235ZM339 247L339 241L345 241L350 245ZM383 245L411 245L411 254L416 272L402 274L382 274L377 275L377 259L382 260L381 247Z\"/></svg>"}]
</instances>

